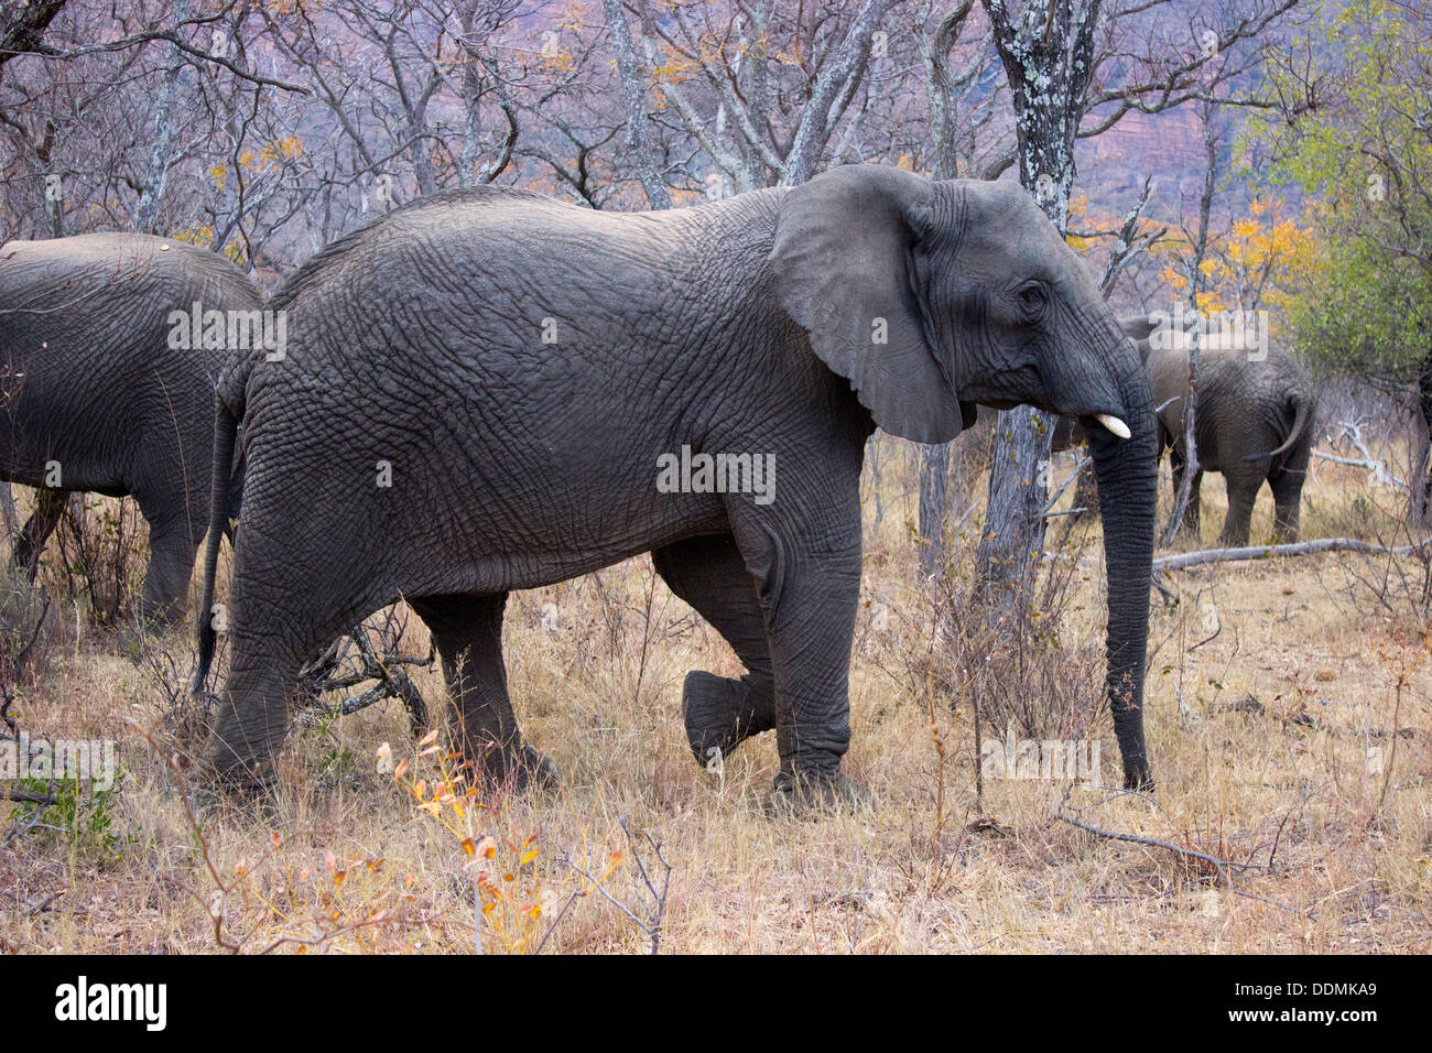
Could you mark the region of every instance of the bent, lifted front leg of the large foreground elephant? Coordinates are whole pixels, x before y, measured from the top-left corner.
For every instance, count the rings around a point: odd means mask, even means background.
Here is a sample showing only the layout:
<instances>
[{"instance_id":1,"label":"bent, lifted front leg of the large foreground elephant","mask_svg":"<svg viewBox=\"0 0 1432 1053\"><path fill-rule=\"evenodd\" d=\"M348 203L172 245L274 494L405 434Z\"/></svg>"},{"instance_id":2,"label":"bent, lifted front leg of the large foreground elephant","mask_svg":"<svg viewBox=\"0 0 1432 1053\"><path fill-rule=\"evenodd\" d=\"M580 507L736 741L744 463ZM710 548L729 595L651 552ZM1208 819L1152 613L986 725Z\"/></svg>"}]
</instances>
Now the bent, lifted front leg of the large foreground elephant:
<instances>
[{"instance_id":1,"label":"bent, lifted front leg of the large foreground elephant","mask_svg":"<svg viewBox=\"0 0 1432 1053\"><path fill-rule=\"evenodd\" d=\"M652 553L672 592L690 603L749 670L739 681L703 670L682 688L686 741L697 764L776 726L776 686L756 585L730 534L690 537Z\"/></svg>"}]
</instances>

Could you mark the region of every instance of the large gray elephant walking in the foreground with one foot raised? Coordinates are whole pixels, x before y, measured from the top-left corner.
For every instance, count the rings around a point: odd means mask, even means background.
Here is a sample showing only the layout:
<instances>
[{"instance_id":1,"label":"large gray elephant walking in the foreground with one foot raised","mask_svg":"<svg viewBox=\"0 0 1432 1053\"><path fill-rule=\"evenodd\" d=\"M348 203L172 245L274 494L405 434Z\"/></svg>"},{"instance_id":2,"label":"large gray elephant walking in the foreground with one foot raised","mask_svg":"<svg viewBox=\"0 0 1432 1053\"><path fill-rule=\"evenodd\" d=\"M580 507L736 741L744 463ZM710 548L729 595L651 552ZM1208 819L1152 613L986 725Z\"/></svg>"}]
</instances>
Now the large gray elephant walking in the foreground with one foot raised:
<instances>
[{"instance_id":1,"label":"large gray elephant walking in the foreground with one foot raised","mask_svg":"<svg viewBox=\"0 0 1432 1053\"><path fill-rule=\"evenodd\" d=\"M208 755L221 785L263 776L299 666L400 596L432 632L467 754L491 779L551 781L507 693L507 595L650 552L749 670L687 678L697 761L775 729L778 808L859 798L841 758L865 440L879 424L947 441L974 403L1133 430L1095 425L1091 444L1116 729L1128 782L1147 782L1148 388L1017 186L853 166L626 215L445 193L329 246L271 305L289 312L288 361L251 358L219 393L216 457L242 420L248 463ZM657 457L683 444L775 454L775 500L659 493ZM205 622L200 683L212 650Z\"/></svg>"}]
</instances>

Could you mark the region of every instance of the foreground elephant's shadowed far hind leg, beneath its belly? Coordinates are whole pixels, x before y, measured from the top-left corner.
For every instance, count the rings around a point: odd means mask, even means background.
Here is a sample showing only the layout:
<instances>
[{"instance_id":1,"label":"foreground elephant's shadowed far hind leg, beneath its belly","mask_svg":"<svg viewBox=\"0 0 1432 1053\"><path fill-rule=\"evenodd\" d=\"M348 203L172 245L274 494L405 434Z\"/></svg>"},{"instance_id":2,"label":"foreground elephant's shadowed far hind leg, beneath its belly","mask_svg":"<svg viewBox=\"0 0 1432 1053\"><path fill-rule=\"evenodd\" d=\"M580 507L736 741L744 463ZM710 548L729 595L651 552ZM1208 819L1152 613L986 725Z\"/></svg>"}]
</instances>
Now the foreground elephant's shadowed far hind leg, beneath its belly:
<instances>
[{"instance_id":1,"label":"foreground elephant's shadowed far hind leg, beneath its belly","mask_svg":"<svg viewBox=\"0 0 1432 1053\"><path fill-rule=\"evenodd\" d=\"M494 785L523 791L557 785L557 769L523 742L507 693L503 663L503 609L495 596L425 596L410 599L432 633L455 708L463 752Z\"/></svg>"}]
</instances>

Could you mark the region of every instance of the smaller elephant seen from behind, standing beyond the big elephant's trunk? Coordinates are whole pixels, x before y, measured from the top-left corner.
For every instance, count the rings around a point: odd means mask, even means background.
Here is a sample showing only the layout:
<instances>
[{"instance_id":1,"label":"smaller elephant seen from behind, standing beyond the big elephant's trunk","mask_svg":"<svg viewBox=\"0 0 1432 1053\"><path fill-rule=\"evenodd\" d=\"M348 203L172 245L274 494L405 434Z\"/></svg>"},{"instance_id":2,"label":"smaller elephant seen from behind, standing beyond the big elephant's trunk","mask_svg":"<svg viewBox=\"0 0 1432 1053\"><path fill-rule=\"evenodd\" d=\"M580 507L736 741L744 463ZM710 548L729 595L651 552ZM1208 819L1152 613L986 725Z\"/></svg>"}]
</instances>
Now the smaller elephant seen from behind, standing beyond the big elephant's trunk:
<instances>
[{"instance_id":1,"label":"smaller elephant seen from behind, standing beyond the big elephant's trunk","mask_svg":"<svg viewBox=\"0 0 1432 1053\"><path fill-rule=\"evenodd\" d=\"M1220 544L1249 543L1253 504L1264 480L1273 490L1273 540L1297 540L1299 504L1313 450L1317 391L1307 372L1280 347L1243 347L1221 332L1203 337L1194 441L1199 471L1180 530L1199 536L1199 486L1204 471L1223 473L1229 513ZM1160 441L1173 463L1174 493L1183 484L1184 394L1189 385L1186 332L1154 328L1138 341L1158 410Z\"/></svg>"}]
</instances>

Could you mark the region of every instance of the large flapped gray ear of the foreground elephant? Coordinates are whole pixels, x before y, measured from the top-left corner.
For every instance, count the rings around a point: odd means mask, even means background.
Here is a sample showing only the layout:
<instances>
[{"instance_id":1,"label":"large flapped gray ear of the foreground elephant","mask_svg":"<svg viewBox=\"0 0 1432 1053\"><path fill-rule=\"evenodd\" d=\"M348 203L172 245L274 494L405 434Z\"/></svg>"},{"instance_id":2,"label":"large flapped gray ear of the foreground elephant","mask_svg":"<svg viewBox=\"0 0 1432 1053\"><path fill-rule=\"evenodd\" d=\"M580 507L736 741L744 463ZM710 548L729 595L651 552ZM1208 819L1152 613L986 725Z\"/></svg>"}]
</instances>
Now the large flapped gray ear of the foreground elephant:
<instances>
[{"instance_id":1,"label":"large flapped gray ear of the foreground elephant","mask_svg":"<svg viewBox=\"0 0 1432 1053\"><path fill-rule=\"evenodd\" d=\"M918 291L928 278L915 271L931 193L912 172L831 169L782 199L770 265L782 309L875 423L916 443L948 443L974 405L962 411Z\"/></svg>"}]
</instances>

